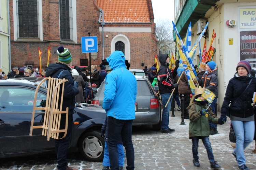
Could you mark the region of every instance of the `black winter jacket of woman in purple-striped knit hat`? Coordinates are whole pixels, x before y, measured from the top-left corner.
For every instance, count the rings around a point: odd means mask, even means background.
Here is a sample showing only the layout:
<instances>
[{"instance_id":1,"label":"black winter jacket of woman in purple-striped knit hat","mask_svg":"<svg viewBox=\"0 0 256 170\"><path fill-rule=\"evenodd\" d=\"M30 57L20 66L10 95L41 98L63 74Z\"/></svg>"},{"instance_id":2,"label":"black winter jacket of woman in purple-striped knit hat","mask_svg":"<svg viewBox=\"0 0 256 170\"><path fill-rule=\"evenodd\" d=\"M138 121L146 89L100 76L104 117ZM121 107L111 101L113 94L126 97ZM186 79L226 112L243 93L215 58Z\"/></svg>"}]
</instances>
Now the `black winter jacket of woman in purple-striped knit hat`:
<instances>
[{"instance_id":1,"label":"black winter jacket of woman in purple-striped knit hat","mask_svg":"<svg viewBox=\"0 0 256 170\"><path fill-rule=\"evenodd\" d=\"M244 92L243 96L241 96L251 79L253 80L250 86ZM230 79L228 83L221 114L226 115L229 103L231 103L230 115L241 118L252 116L254 114L252 107L254 91L256 91L256 78L252 77L251 74L247 77L238 77L236 73L234 78ZM239 96L241 97L234 103Z\"/></svg>"}]
</instances>

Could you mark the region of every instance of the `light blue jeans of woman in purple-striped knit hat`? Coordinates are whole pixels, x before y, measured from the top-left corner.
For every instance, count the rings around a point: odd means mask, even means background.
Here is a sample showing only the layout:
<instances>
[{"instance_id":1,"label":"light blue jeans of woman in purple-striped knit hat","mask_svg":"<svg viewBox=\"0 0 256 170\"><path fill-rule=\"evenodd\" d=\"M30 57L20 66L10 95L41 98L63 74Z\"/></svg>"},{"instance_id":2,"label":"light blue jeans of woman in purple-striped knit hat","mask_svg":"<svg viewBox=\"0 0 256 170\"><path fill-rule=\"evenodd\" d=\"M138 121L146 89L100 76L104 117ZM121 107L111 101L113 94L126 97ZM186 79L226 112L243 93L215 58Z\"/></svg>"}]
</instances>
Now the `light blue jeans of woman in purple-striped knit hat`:
<instances>
[{"instance_id":1,"label":"light blue jeans of woman in purple-striped knit hat","mask_svg":"<svg viewBox=\"0 0 256 170\"><path fill-rule=\"evenodd\" d=\"M244 149L250 145L254 137L254 121L231 120L236 134L236 148L234 153L237 155L237 164L245 164Z\"/></svg>"}]
</instances>

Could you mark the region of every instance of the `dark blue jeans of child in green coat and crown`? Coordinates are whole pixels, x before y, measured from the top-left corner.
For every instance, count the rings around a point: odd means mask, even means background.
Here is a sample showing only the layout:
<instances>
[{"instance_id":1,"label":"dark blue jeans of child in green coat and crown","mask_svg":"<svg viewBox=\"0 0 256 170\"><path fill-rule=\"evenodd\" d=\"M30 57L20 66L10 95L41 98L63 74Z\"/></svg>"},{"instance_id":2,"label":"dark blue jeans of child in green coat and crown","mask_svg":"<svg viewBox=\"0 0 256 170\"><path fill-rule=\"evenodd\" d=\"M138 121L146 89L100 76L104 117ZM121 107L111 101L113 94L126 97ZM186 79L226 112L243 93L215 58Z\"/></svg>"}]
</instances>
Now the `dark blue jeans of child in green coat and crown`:
<instances>
[{"instance_id":1,"label":"dark blue jeans of child in green coat and crown","mask_svg":"<svg viewBox=\"0 0 256 170\"><path fill-rule=\"evenodd\" d=\"M192 153L193 153L193 158L198 158L198 141L199 141L199 136L191 137L192 139ZM203 145L207 151L208 158L210 162L214 162L214 156L212 153L212 147L211 147L211 142L209 141L208 136L201 136Z\"/></svg>"}]
</instances>

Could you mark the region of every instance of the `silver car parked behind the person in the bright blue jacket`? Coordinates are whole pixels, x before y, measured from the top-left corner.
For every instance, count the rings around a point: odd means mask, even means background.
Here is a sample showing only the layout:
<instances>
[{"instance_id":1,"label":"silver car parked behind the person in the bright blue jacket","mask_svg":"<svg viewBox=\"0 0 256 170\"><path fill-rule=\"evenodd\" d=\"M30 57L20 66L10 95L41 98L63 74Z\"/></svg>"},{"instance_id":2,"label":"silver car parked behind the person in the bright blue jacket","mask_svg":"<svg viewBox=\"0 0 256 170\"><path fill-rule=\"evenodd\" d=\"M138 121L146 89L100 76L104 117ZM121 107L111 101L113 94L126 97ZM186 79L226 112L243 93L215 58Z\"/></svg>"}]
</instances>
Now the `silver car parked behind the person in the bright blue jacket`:
<instances>
[{"instance_id":1,"label":"silver car parked behind the person in the bright blue jacket","mask_svg":"<svg viewBox=\"0 0 256 170\"><path fill-rule=\"evenodd\" d=\"M153 130L161 129L161 104L150 84L144 76L135 75L137 80L137 98L135 104L135 120L133 126L153 125ZM101 83L93 104L102 106L105 81ZM125 108L124 108L125 109Z\"/></svg>"}]
</instances>

